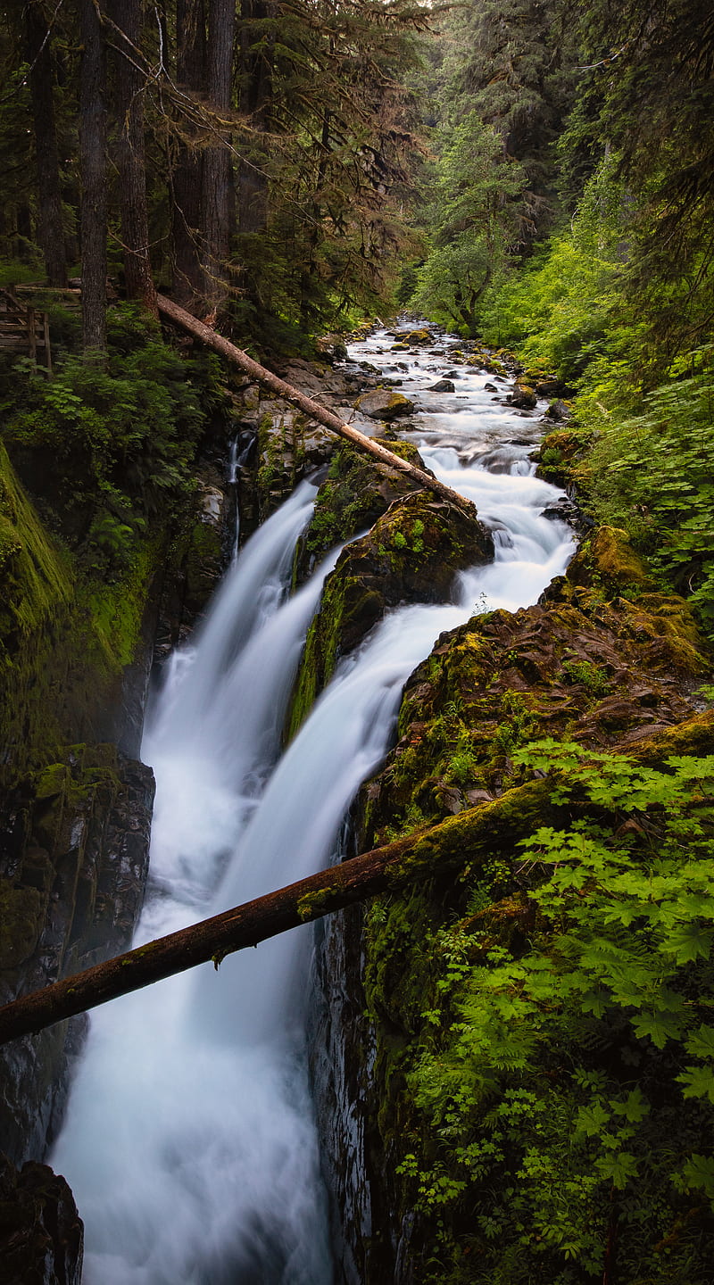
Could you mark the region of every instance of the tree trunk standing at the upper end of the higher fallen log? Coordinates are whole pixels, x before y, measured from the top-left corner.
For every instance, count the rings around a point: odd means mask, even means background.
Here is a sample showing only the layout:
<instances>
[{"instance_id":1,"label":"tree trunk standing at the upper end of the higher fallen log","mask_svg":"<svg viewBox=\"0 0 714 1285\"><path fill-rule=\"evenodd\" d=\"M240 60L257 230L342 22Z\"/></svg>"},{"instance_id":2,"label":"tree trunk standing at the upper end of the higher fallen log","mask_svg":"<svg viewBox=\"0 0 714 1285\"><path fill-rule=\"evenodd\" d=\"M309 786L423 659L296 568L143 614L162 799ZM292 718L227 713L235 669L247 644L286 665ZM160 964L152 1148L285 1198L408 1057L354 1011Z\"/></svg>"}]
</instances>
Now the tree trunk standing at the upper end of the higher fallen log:
<instances>
[{"instance_id":1,"label":"tree trunk standing at the upper end of the higher fallen log","mask_svg":"<svg viewBox=\"0 0 714 1285\"><path fill-rule=\"evenodd\" d=\"M141 40L143 0L109 0L109 14L118 28L113 32L114 111L126 294L141 299L158 316L146 212L145 77L135 53Z\"/></svg>"}]
</instances>

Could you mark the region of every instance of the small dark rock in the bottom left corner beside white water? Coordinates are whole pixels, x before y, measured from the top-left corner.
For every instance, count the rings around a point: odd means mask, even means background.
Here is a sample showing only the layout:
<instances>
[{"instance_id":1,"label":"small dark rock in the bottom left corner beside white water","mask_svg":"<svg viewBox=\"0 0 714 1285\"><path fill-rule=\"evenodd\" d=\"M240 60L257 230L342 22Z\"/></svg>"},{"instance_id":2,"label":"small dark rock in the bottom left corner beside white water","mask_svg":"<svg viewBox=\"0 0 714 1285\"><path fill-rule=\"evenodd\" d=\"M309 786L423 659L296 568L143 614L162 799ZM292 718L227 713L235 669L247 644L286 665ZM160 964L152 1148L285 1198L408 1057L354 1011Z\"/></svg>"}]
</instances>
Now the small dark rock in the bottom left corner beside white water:
<instances>
[{"instance_id":1,"label":"small dark rock in the bottom left corner beside white water","mask_svg":"<svg viewBox=\"0 0 714 1285\"><path fill-rule=\"evenodd\" d=\"M80 1285L83 1227L72 1192L46 1164L18 1172L0 1154L3 1285Z\"/></svg>"}]
</instances>

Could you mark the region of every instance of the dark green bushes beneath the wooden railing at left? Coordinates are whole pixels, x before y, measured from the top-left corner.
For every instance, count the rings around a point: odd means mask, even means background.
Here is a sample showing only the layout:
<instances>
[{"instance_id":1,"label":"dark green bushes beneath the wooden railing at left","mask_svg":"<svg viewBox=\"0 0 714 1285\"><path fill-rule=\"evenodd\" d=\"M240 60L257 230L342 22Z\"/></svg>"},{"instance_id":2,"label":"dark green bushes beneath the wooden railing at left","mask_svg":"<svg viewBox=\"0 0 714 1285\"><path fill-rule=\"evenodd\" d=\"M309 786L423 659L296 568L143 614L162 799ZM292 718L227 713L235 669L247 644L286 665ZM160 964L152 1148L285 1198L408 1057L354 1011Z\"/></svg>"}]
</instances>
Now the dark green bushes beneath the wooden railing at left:
<instances>
[{"instance_id":1,"label":"dark green bushes beneath the wooden railing at left","mask_svg":"<svg viewBox=\"0 0 714 1285\"><path fill-rule=\"evenodd\" d=\"M89 563L119 572L146 519L187 493L217 380L211 364L182 361L136 308L112 310L109 337L105 369L69 356L48 380L17 362L4 437L64 533L85 541Z\"/></svg>"}]
</instances>

